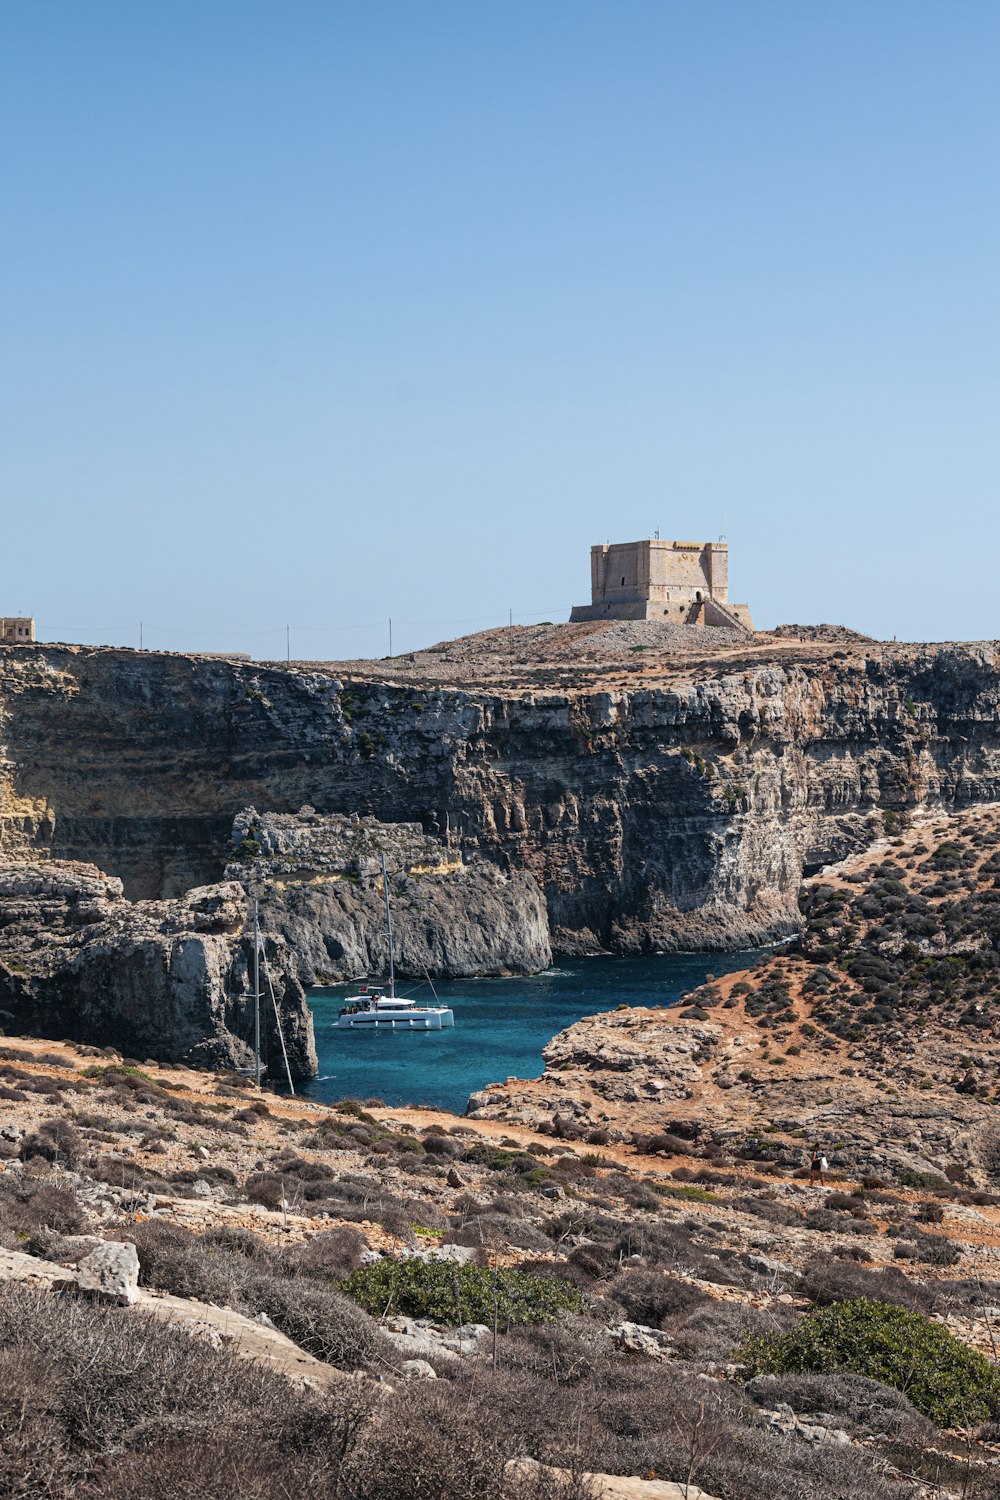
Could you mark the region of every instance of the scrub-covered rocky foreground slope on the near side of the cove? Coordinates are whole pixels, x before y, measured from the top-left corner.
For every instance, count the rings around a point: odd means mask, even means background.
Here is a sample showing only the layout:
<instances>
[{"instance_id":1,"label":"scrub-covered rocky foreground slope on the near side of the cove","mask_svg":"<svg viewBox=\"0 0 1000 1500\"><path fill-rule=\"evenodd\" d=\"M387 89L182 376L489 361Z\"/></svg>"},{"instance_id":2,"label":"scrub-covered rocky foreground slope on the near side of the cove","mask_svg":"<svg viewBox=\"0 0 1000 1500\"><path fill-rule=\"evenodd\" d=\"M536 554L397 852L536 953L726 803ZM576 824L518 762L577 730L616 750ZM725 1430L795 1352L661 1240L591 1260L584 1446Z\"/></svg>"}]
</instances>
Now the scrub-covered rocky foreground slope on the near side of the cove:
<instances>
[{"instance_id":1,"label":"scrub-covered rocky foreground slope on the near side of the cove","mask_svg":"<svg viewBox=\"0 0 1000 1500\"><path fill-rule=\"evenodd\" d=\"M999 1197L609 1134L4 1040L0 1490L996 1500Z\"/></svg>"}]
</instances>

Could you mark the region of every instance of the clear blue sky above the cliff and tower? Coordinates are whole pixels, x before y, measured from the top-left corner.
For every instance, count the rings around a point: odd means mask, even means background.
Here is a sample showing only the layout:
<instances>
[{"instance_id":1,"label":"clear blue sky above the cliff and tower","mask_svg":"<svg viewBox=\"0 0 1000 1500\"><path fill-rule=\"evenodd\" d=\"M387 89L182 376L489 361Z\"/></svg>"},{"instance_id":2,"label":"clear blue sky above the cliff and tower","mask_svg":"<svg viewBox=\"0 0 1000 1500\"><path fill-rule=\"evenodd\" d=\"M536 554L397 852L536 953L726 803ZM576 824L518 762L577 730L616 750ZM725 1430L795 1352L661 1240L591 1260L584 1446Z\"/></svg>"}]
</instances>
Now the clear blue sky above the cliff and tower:
<instances>
[{"instance_id":1,"label":"clear blue sky above the cliff and tower","mask_svg":"<svg viewBox=\"0 0 1000 1500\"><path fill-rule=\"evenodd\" d=\"M1000 636L996 0L3 0L0 614L384 654L709 538Z\"/></svg>"}]
</instances>

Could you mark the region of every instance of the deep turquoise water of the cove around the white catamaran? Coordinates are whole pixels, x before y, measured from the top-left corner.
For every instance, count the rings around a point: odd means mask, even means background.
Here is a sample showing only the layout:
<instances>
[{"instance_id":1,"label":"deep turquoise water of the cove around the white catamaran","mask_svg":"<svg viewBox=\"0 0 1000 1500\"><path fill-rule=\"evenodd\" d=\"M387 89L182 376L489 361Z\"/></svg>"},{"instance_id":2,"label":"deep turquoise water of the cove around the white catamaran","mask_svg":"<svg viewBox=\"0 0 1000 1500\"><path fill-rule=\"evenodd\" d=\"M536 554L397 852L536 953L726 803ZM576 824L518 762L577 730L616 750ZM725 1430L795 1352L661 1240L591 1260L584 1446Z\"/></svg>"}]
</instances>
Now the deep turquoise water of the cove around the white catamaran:
<instances>
[{"instance_id":1,"label":"deep turquoise water of the cove around the white catamaran","mask_svg":"<svg viewBox=\"0 0 1000 1500\"><path fill-rule=\"evenodd\" d=\"M469 1094L514 1076L537 1078L541 1048L583 1016L616 1005L673 1005L706 974L745 969L756 952L688 952L652 958L565 958L519 980L454 980L436 986L454 1010L439 1032L388 1028L337 1029L345 994L355 986L309 992L316 1024L319 1077L312 1098L379 1098L463 1113ZM432 1002L427 986L399 984L400 994ZM432 1002L433 1004L433 1002Z\"/></svg>"}]
</instances>

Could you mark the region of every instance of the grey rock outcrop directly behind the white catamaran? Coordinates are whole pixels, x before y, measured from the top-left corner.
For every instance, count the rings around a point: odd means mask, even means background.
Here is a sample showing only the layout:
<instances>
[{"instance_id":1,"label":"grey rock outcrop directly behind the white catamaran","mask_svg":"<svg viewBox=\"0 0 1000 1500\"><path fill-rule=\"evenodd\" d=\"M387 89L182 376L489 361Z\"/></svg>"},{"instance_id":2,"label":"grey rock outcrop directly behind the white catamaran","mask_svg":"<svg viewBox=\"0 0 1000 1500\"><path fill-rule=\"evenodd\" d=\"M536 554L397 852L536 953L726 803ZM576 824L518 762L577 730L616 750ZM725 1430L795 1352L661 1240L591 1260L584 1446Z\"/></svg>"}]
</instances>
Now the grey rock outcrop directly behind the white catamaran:
<instances>
[{"instance_id":1,"label":"grey rock outcrop directly behind the white catamaran","mask_svg":"<svg viewBox=\"0 0 1000 1500\"><path fill-rule=\"evenodd\" d=\"M552 962L534 876L466 862L420 824L247 808L235 820L232 852L226 879L259 894L264 930L295 952L306 984L385 974L382 854L400 974L537 974Z\"/></svg>"}]
</instances>

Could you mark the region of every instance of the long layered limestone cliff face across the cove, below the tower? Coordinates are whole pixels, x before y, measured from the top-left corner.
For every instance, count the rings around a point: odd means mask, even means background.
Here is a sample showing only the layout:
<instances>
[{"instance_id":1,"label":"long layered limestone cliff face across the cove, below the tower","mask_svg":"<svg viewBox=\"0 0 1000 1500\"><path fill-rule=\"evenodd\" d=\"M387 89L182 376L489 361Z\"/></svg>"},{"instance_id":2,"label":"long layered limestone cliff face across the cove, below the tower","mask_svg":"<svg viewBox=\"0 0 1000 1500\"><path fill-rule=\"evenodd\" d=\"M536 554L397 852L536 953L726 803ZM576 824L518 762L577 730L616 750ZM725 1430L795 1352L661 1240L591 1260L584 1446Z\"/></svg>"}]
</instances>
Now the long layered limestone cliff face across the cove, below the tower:
<instances>
[{"instance_id":1,"label":"long layered limestone cliff face across the cove, below the tower","mask_svg":"<svg viewBox=\"0 0 1000 1500\"><path fill-rule=\"evenodd\" d=\"M991 644L748 646L565 692L376 668L3 650L0 852L160 897L222 876L240 810L309 804L420 822L529 874L556 948L630 952L787 932L804 868L886 810L1000 796Z\"/></svg>"}]
</instances>

